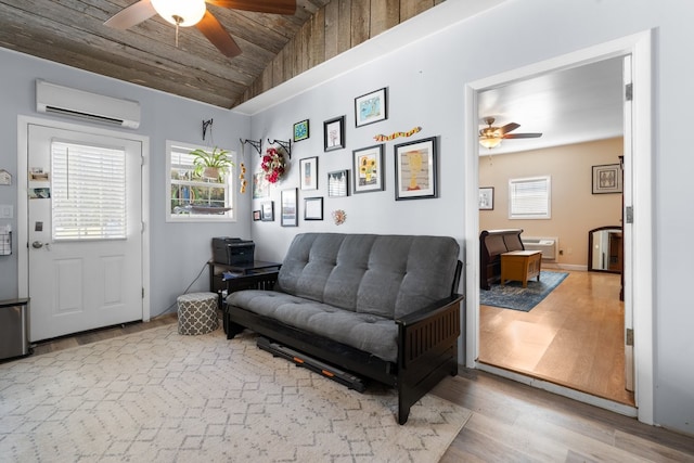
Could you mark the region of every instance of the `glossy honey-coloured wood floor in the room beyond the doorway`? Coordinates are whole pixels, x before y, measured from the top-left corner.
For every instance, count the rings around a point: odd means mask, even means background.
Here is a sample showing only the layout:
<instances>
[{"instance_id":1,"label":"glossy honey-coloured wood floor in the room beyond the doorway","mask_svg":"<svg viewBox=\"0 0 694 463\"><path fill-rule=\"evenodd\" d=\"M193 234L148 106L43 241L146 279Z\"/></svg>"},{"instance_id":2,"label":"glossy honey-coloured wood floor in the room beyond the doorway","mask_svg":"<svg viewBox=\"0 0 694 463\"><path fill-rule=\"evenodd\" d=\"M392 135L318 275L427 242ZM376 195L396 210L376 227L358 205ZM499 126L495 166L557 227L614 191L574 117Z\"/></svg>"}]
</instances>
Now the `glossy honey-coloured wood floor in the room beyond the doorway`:
<instances>
[{"instance_id":1,"label":"glossy honey-coloured wood floor in the room beyond the doorway","mask_svg":"<svg viewBox=\"0 0 694 463\"><path fill-rule=\"evenodd\" d=\"M529 312L480 306L479 361L628 406L619 274L569 272Z\"/></svg>"}]
</instances>

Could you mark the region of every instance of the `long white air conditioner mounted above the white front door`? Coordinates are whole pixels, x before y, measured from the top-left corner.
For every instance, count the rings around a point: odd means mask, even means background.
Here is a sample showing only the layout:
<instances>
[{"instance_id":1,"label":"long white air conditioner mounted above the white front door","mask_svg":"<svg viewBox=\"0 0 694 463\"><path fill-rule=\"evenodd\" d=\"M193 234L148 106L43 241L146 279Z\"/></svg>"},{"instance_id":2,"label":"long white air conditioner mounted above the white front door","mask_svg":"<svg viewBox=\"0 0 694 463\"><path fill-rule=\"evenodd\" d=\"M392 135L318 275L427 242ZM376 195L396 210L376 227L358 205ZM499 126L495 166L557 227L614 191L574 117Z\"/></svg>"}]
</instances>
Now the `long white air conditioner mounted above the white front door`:
<instances>
[{"instance_id":1,"label":"long white air conditioner mounted above the white front door","mask_svg":"<svg viewBox=\"0 0 694 463\"><path fill-rule=\"evenodd\" d=\"M36 111L137 129L140 103L36 79Z\"/></svg>"}]
</instances>

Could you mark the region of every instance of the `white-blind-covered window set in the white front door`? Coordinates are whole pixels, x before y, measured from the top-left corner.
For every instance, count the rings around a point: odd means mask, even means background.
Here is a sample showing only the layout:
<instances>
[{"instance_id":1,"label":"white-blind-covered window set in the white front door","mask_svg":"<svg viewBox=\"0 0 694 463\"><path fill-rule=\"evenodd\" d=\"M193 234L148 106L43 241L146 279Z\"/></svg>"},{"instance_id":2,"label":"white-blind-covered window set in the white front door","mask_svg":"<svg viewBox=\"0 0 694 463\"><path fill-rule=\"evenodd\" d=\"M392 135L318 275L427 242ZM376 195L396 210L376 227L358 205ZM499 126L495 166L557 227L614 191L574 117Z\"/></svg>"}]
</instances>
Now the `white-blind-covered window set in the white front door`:
<instances>
[{"instance_id":1,"label":"white-blind-covered window set in the white front door","mask_svg":"<svg viewBox=\"0 0 694 463\"><path fill-rule=\"evenodd\" d=\"M51 142L53 240L125 240L126 152Z\"/></svg>"}]
</instances>

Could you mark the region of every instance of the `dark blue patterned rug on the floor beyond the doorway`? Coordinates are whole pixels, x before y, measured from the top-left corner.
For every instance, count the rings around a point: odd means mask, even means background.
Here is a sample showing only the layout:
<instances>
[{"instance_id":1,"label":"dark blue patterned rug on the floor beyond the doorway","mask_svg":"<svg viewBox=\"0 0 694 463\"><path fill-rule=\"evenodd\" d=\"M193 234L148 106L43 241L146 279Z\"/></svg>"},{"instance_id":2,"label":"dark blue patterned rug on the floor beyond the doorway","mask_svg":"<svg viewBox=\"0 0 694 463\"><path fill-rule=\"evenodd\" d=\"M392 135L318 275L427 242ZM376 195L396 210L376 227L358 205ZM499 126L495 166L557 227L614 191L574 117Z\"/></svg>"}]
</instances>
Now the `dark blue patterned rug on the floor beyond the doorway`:
<instances>
[{"instance_id":1,"label":"dark blue patterned rug on the floor beyond the doorway","mask_svg":"<svg viewBox=\"0 0 694 463\"><path fill-rule=\"evenodd\" d=\"M492 284L489 291L479 290L479 304L529 312L566 276L568 276L566 272L541 271L540 281L534 278L528 281L528 287L523 287L519 281L506 282L505 286L499 283Z\"/></svg>"}]
</instances>

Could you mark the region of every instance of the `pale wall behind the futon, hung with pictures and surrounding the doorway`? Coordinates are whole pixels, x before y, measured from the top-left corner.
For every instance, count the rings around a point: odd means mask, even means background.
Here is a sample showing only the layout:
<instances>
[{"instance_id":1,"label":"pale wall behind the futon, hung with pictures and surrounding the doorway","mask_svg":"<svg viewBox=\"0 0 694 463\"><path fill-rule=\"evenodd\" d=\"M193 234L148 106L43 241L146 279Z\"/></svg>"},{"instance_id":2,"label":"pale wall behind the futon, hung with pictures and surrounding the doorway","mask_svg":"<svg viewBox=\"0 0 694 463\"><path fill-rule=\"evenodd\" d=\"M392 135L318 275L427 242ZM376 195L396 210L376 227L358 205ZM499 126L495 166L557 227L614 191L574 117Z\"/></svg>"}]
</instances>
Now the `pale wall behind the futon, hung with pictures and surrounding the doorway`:
<instances>
[{"instance_id":1,"label":"pale wall behind the futon, hung with pictures and surrounding the doorway","mask_svg":"<svg viewBox=\"0 0 694 463\"><path fill-rule=\"evenodd\" d=\"M446 14L455 3L445 2L430 12ZM654 413L657 424L694 434L694 343L689 335L694 310L684 290L692 278L686 262L694 249L682 245L689 243L694 224L691 195L683 193L694 167L689 147L694 61L686 59L694 42L692 21L694 4L682 0L512 0L255 115L255 139L288 139L294 123L309 118L311 124L310 139L294 146L294 170L273 188L275 207L282 189L298 187L296 165L303 157L319 156L320 180L318 191L299 192L299 197L325 197L323 222L299 220L298 229L283 229L279 220L254 222L257 247L264 258L281 259L295 233L313 230L447 234L473 245L475 236L463 236L465 83L654 29ZM355 128L354 98L381 87L389 91L388 119ZM322 123L343 114L347 149L323 153ZM402 139L386 143L386 191L327 197L326 172L351 169L351 150L374 144L376 133L414 126L423 131L409 140L440 137L439 198L394 201L393 146ZM254 201L254 209L258 203ZM345 224L336 227L330 220L335 208L346 210ZM638 343L638 333L635 337Z\"/></svg>"}]
</instances>

